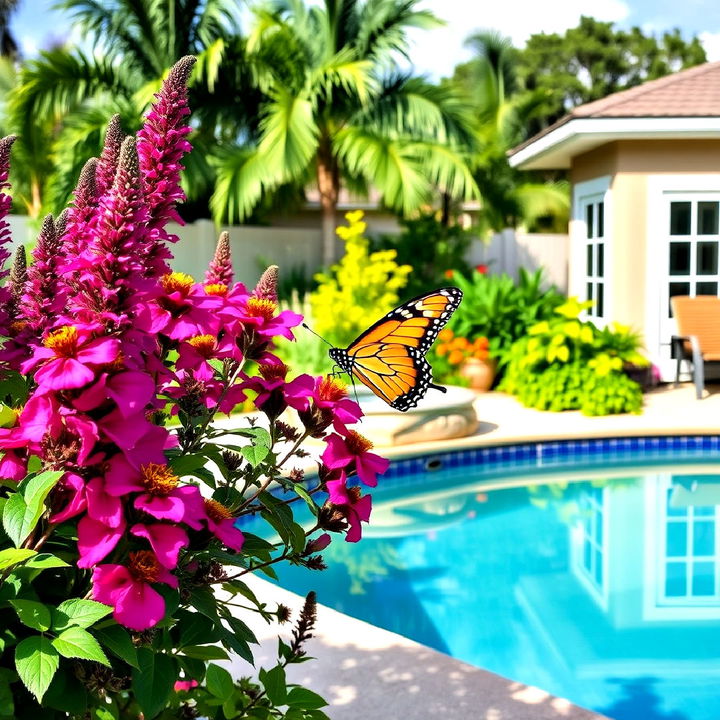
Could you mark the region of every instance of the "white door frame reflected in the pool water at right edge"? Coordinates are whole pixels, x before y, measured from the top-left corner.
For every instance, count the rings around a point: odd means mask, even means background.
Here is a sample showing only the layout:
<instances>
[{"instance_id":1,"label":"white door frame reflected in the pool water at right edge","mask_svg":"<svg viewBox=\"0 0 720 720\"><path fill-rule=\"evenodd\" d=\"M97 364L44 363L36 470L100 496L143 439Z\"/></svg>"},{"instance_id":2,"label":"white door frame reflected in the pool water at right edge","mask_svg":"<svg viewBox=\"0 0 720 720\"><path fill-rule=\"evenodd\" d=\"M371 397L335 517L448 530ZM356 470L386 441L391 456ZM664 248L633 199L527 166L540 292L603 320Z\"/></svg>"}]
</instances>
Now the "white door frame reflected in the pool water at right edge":
<instances>
[{"instance_id":1,"label":"white door frame reflected in the pool water at right edge","mask_svg":"<svg viewBox=\"0 0 720 720\"><path fill-rule=\"evenodd\" d=\"M720 513L715 511L716 594L704 597L668 598L665 595L667 560L667 492L672 475L658 473L645 479L645 552L643 582L644 620L717 620L720 618ZM703 521L709 521L710 516ZM687 520L690 524L690 518ZM687 548L687 557L692 548ZM708 562L708 560L701 560Z\"/></svg>"}]
</instances>

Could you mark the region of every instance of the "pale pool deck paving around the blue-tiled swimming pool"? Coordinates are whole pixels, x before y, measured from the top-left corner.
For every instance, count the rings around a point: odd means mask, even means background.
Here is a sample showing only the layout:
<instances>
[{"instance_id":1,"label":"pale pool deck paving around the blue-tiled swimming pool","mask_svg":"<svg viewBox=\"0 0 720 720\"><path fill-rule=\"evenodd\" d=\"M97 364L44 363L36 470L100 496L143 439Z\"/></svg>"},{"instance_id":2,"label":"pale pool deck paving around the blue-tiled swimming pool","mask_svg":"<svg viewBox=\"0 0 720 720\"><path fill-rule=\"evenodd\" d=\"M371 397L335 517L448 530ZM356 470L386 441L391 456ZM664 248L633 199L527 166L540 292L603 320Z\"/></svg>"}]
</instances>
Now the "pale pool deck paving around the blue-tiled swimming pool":
<instances>
[{"instance_id":1,"label":"pale pool deck paving around the blue-tiled swimming pool","mask_svg":"<svg viewBox=\"0 0 720 720\"><path fill-rule=\"evenodd\" d=\"M693 387L663 386L645 396L641 415L591 418L580 413L548 413L522 407L501 393L478 396L477 432L458 440L382 449L387 456L453 448L541 440L629 435L720 434L720 387L702 400ZM302 598L259 578L250 583L270 605L282 602L297 611ZM308 576L308 589L312 576ZM296 616L297 613L295 613ZM254 629L261 642L259 665L272 662L276 627ZM289 635L290 628L286 634ZM394 633L327 607L308 651L317 659L290 668L290 681L325 697L332 720L602 720L605 716L567 700L471 667ZM248 672L238 667L241 673Z\"/></svg>"}]
</instances>

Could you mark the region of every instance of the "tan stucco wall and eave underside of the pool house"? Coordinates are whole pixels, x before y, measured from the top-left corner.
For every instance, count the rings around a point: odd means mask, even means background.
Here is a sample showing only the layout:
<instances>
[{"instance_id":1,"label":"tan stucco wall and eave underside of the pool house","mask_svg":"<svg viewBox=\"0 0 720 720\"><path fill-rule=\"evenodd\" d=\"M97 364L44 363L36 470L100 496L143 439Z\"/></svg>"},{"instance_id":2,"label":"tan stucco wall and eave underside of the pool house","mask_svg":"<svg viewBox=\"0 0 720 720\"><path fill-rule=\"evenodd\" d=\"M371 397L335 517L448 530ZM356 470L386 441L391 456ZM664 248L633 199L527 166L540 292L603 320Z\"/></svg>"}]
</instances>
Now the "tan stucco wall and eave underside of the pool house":
<instances>
[{"instance_id":1,"label":"tan stucco wall and eave underside of the pool house","mask_svg":"<svg viewBox=\"0 0 720 720\"><path fill-rule=\"evenodd\" d=\"M611 177L612 248L606 287L610 320L646 334L648 177L718 172L720 139L625 140L608 143L573 159L570 171L573 184ZM572 227L571 237L577 237ZM659 252L665 252L664 247Z\"/></svg>"}]
</instances>

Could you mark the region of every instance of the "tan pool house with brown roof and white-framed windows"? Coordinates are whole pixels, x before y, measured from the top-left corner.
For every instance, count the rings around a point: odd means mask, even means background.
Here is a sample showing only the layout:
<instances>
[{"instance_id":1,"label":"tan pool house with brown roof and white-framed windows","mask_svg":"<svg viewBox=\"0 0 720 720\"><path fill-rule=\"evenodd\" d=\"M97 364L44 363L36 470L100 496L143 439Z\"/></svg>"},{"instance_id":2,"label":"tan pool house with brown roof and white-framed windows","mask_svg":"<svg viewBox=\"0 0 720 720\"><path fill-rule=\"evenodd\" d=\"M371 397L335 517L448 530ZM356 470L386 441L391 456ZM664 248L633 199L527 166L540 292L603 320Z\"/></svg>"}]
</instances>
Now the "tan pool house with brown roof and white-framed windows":
<instances>
[{"instance_id":1,"label":"tan pool house with brown roof and white-framed windows","mask_svg":"<svg viewBox=\"0 0 720 720\"><path fill-rule=\"evenodd\" d=\"M720 62L580 105L510 162L569 171L569 292L639 330L671 380L670 298L720 294Z\"/></svg>"}]
</instances>

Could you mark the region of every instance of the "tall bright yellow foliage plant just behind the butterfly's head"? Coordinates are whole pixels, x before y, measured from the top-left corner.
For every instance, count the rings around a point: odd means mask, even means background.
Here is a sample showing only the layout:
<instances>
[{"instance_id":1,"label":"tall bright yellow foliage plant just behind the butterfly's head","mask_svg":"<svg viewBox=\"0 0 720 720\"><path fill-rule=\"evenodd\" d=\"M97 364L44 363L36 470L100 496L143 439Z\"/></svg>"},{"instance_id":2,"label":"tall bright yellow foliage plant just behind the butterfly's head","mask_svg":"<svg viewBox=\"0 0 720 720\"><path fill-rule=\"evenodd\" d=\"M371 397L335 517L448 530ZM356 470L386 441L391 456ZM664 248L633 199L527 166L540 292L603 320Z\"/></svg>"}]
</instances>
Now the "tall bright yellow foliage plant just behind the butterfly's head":
<instances>
[{"instance_id":1,"label":"tall bright yellow foliage plant just behind the butterfly's head","mask_svg":"<svg viewBox=\"0 0 720 720\"><path fill-rule=\"evenodd\" d=\"M337 228L345 254L327 272L318 273L318 288L310 295L314 329L333 345L344 346L398 304L399 291L412 272L397 263L395 250L370 252L363 212L345 215Z\"/></svg>"}]
</instances>

